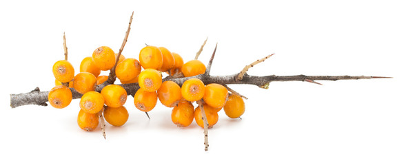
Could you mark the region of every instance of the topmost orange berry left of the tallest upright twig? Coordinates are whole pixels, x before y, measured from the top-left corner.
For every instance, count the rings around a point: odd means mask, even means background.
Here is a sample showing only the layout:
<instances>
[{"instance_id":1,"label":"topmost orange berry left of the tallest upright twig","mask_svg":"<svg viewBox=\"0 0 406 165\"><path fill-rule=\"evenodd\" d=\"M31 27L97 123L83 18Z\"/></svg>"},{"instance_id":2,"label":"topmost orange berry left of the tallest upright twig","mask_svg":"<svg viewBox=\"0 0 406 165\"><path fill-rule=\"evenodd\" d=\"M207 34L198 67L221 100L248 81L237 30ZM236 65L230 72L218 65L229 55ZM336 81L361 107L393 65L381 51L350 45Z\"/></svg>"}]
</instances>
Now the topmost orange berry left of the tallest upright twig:
<instances>
[{"instance_id":1,"label":"topmost orange berry left of the tallest upright twig","mask_svg":"<svg viewBox=\"0 0 406 165\"><path fill-rule=\"evenodd\" d=\"M110 47L101 46L94 50L92 59L99 69L106 71L112 69L116 63L116 56Z\"/></svg>"}]
</instances>

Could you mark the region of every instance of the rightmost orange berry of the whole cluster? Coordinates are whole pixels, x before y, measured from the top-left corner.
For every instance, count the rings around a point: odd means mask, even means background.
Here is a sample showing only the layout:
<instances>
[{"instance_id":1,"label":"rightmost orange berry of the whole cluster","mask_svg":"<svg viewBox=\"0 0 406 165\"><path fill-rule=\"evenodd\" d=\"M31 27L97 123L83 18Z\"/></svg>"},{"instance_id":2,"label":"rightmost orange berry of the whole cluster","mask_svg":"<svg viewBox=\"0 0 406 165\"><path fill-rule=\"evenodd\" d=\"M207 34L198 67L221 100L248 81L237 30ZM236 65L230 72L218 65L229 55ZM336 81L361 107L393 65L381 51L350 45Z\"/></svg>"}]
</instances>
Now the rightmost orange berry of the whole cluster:
<instances>
[{"instance_id":1,"label":"rightmost orange berry of the whole cluster","mask_svg":"<svg viewBox=\"0 0 406 165\"><path fill-rule=\"evenodd\" d=\"M245 112L245 103L243 98L231 94L223 107L225 115L230 118L239 118Z\"/></svg>"}]
</instances>

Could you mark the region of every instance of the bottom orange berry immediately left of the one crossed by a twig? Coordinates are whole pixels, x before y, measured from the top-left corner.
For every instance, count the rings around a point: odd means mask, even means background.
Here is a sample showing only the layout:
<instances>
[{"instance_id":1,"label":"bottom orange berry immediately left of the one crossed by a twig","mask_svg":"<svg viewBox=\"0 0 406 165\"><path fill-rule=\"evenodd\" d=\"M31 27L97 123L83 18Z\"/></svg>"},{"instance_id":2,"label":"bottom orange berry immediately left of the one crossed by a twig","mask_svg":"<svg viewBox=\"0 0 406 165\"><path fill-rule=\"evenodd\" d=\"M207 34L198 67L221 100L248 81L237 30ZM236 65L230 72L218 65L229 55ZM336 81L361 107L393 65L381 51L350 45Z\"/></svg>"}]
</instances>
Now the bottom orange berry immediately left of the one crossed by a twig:
<instances>
[{"instance_id":1,"label":"bottom orange berry immediately left of the one crossed by a twig","mask_svg":"<svg viewBox=\"0 0 406 165\"><path fill-rule=\"evenodd\" d=\"M186 127L192 124L194 118L193 104L188 101L181 101L172 109L172 122L179 127Z\"/></svg>"}]
</instances>

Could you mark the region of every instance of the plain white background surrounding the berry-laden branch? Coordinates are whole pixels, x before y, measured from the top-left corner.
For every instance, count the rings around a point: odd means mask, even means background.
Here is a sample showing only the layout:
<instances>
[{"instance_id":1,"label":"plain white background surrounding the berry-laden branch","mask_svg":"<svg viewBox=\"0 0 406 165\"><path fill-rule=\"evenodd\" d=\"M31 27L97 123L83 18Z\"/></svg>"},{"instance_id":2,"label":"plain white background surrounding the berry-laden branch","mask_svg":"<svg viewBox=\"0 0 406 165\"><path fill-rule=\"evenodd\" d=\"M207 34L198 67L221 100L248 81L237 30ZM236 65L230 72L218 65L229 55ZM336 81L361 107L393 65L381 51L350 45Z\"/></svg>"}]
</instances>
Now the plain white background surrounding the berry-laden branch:
<instances>
[{"instance_id":1,"label":"plain white background surrounding the berry-laden branch","mask_svg":"<svg viewBox=\"0 0 406 165\"><path fill-rule=\"evenodd\" d=\"M0 164L406 164L403 1L1 1ZM179 129L160 103L151 120L126 107L130 119L99 128L77 126L79 100L65 109L10 108L10 94L48 91L51 68L63 59L79 72L101 45L138 58L148 45L207 63L219 43L213 75L239 72L258 58L252 75L393 76L392 79L230 85L247 96L243 120L223 111L209 131ZM102 74L108 74L103 72Z\"/></svg>"}]
</instances>

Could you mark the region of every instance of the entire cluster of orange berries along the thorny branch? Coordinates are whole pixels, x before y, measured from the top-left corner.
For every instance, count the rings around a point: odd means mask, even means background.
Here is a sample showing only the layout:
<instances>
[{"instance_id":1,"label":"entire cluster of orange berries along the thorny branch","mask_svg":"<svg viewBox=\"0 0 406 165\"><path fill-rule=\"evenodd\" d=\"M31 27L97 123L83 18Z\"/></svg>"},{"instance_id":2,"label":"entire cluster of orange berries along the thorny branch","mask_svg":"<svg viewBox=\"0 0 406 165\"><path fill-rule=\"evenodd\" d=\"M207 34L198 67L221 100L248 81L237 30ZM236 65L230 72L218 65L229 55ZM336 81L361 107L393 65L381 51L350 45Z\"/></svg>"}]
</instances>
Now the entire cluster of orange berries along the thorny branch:
<instances>
[{"instance_id":1,"label":"entire cluster of orange berries along the thorny branch","mask_svg":"<svg viewBox=\"0 0 406 165\"><path fill-rule=\"evenodd\" d=\"M170 76L185 77L204 74L206 67L198 60L183 63L183 58L165 47L146 46L135 58L119 57L110 47L102 46L94 50L92 56L83 59L80 73L74 75L74 68L68 61L57 61L52 67L56 87L48 94L52 107L67 107L72 100L72 88L83 94L80 100L77 122L85 131L92 131L99 125L101 112L105 120L113 126L122 126L128 120L128 111L123 107L127 100L127 91L120 85L107 85L101 92L94 91L97 85L104 83L108 76L99 76L101 71L112 69L122 84L138 83L140 89L134 95L134 105L141 111L151 111L157 100L172 109L172 122L177 126L189 126L193 119L203 127L203 118L199 106L192 102L203 100L203 109L209 127L219 120L218 112L224 109L230 118L239 118L245 111L240 96L229 94L219 84L204 85L198 78L186 80L182 87L173 81L162 82L162 72ZM141 69L143 68L143 70Z\"/></svg>"}]
</instances>

